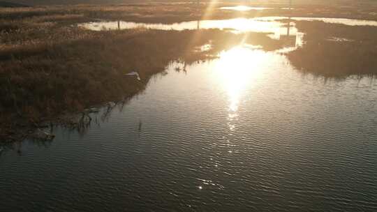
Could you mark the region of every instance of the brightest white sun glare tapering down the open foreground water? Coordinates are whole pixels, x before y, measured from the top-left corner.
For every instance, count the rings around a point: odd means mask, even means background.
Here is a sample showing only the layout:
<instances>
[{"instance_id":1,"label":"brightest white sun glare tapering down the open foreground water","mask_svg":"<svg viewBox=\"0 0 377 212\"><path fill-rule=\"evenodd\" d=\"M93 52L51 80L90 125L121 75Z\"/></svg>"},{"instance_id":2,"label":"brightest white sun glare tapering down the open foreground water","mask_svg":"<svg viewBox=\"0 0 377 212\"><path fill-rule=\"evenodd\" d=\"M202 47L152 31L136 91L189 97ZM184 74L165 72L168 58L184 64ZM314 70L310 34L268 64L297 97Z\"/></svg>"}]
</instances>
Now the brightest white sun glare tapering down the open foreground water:
<instances>
[{"instance_id":1,"label":"brightest white sun glare tapering down the open foreground water","mask_svg":"<svg viewBox=\"0 0 377 212\"><path fill-rule=\"evenodd\" d=\"M246 102L260 95L255 93L253 96L253 90L257 91L265 84L269 74L274 73L276 66L280 66L284 56L276 52L266 52L258 45L245 43L230 50L223 50L218 56L211 70L214 85L219 89L225 103L225 128L219 146L222 148L221 156L234 158L241 151L238 139L245 120L245 117L242 117L243 105L246 109L249 107ZM217 163L215 168L219 168Z\"/></svg>"}]
</instances>

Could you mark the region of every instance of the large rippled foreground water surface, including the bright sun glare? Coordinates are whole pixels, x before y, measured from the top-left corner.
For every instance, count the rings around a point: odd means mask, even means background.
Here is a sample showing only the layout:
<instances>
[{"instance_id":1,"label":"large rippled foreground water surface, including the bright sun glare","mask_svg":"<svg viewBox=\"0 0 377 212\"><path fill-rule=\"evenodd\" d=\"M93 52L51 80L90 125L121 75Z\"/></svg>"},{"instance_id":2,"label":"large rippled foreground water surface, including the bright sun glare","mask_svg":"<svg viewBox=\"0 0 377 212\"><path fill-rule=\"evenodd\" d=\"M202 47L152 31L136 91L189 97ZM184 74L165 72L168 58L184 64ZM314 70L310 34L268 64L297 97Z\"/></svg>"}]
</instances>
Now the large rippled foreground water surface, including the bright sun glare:
<instances>
[{"instance_id":1,"label":"large rippled foreground water surface, including the bright sun glare","mask_svg":"<svg viewBox=\"0 0 377 212\"><path fill-rule=\"evenodd\" d=\"M246 45L182 66L84 135L4 149L0 211L377 210L374 79Z\"/></svg>"}]
</instances>

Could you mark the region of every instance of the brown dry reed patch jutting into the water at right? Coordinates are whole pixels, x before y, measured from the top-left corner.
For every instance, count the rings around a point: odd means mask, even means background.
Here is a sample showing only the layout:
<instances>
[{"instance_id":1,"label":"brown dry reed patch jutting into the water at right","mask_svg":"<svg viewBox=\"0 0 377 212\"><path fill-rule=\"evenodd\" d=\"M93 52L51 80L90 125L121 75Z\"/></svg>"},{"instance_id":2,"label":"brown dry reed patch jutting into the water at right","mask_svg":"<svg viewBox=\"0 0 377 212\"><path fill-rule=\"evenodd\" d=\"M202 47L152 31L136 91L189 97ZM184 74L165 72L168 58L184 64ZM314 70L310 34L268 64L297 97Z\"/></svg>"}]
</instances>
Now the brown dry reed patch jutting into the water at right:
<instances>
[{"instance_id":1,"label":"brown dry reed patch jutting into the water at right","mask_svg":"<svg viewBox=\"0 0 377 212\"><path fill-rule=\"evenodd\" d=\"M303 72L326 77L377 74L377 27L324 22L297 22L297 27L306 33L306 43L288 59Z\"/></svg>"}]
</instances>

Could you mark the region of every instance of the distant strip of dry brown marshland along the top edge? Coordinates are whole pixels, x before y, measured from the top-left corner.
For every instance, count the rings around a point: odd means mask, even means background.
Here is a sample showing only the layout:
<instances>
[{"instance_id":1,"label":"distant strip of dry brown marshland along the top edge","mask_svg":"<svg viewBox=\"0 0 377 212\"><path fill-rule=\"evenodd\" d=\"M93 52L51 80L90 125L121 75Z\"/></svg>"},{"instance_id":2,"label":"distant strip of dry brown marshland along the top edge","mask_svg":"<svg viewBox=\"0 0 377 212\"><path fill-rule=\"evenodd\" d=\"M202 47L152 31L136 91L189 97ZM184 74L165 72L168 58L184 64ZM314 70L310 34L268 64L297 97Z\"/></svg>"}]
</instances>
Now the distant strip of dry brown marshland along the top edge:
<instances>
[{"instance_id":1,"label":"distant strip of dry brown marshland along the top edge","mask_svg":"<svg viewBox=\"0 0 377 212\"><path fill-rule=\"evenodd\" d=\"M294 3L295 10L283 10L287 3L258 3L253 6L272 8L269 10L232 11L219 10L221 6L234 3L147 3L127 5L77 5L39 6L31 8L0 8L0 20L19 20L34 17L80 15L91 20L124 20L135 22L173 23L200 19L227 19L232 17L288 16L296 17L343 17L377 20L377 3L366 1L341 1L341 4L320 5Z\"/></svg>"}]
</instances>

